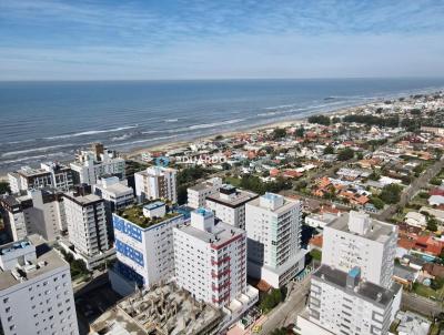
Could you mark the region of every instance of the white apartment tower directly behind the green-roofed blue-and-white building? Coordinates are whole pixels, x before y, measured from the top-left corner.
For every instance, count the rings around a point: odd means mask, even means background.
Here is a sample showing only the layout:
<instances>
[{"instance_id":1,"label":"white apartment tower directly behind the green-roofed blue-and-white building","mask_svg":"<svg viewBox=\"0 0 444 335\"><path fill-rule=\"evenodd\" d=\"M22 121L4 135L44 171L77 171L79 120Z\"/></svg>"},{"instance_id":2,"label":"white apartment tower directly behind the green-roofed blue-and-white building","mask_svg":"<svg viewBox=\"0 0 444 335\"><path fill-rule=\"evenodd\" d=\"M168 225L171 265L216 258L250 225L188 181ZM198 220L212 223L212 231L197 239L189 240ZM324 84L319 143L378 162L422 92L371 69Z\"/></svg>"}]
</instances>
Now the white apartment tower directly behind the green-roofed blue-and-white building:
<instances>
[{"instance_id":1,"label":"white apartment tower directly behind the green-roofed blue-and-white building","mask_svg":"<svg viewBox=\"0 0 444 335\"><path fill-rule=\"evenodd\" d=\"M164 166L150 166L134 173L135 195L139 202L165 199L178 202L178 170Z\"/></svg>"}]
</instances>

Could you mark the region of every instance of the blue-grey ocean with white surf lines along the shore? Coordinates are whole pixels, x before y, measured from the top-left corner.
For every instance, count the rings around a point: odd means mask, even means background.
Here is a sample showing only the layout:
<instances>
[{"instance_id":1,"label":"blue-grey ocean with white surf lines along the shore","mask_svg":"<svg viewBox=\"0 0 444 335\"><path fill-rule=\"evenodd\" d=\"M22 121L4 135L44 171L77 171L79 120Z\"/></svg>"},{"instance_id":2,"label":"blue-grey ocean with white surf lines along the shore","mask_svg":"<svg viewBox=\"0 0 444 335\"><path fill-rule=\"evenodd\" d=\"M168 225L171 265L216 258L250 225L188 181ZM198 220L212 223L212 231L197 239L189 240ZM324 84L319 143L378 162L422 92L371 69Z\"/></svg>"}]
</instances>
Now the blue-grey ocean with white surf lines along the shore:
<instances>
[{"instance_id":1,"label":"blue-grey ocean with white surf lines along the shore","mask_svg":"<svg viewBox=\"0 0 444 335\"><path fill-rule=\"evenodd\" d=\"M0 171L193 139L444 88L444 79L0 82Z\"/></svg>"}]
</instances>

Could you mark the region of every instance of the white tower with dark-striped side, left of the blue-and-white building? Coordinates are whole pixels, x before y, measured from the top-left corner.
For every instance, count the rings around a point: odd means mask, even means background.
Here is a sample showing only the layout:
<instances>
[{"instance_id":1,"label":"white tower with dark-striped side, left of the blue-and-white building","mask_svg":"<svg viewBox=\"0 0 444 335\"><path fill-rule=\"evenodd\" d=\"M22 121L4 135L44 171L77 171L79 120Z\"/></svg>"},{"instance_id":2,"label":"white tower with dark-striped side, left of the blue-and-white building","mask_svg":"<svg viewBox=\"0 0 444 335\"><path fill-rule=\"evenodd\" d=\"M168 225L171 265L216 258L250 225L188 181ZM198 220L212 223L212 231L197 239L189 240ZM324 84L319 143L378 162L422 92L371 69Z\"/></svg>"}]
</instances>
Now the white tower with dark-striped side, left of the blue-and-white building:
<instances>
[{"instance_id":1,"label":"white tower with dark-striped side, left of the blue-and-white building","mask_svg":"<svg viewBox=\"0 0 444 335\"><path fill-rule=\"evenodd\" d=\"M103 261L110 250L104 201L95 194L63 194L69 243L89 268Z\"/></svg>"}]
</instances>

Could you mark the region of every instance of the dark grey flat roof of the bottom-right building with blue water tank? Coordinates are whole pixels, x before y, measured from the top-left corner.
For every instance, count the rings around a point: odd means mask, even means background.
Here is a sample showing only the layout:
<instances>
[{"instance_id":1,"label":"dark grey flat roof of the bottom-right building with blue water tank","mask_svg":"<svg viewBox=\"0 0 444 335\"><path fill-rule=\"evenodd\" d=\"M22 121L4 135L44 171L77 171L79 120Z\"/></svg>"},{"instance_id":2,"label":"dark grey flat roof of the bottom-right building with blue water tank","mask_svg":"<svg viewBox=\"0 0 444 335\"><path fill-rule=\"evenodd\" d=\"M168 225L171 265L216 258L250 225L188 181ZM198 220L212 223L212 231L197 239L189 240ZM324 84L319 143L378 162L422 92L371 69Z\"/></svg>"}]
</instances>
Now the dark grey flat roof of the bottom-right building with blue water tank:
<instances>
[{"instance_id":1,"label":"dark grey flat roof of the bottom-right building with blue water tank","mask_svg":"<svg viewBox=\"0 0 444 335\"><path fill-rule=\"evenodd\" d=\"M393 295L401 288L401 285L396 283L393 283L391 290L387 290L371 282L361 281L355 290L350 290L346 288L347 273L327 265L321 265L313 273L313 278L332 284L339 290L346 291L350 295L359 296L384 307L392 302Z\"/></svg>"}]
</instances>

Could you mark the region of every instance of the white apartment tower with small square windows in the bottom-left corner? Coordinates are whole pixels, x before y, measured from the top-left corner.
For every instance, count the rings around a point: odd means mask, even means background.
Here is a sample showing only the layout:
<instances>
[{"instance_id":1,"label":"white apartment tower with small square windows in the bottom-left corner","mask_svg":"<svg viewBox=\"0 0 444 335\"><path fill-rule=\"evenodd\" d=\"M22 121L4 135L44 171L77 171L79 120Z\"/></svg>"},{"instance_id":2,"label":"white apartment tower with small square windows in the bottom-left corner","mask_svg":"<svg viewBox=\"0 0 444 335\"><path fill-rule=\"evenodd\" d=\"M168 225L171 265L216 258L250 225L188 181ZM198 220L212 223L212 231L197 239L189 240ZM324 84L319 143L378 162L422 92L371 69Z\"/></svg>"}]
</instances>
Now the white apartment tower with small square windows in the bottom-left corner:
<instances>
[{"instance_id":1,"label":"white apartment tower with small square windows in the bottom-left corner","mask_svg":"<svg viewBox=\"0 0 444 335\"><path fill-rule=\"evenodd\" d=\"M78 335L69 264L43 241L0 246L0 321L4 335Z\"/></svg>"}]
</instances>

